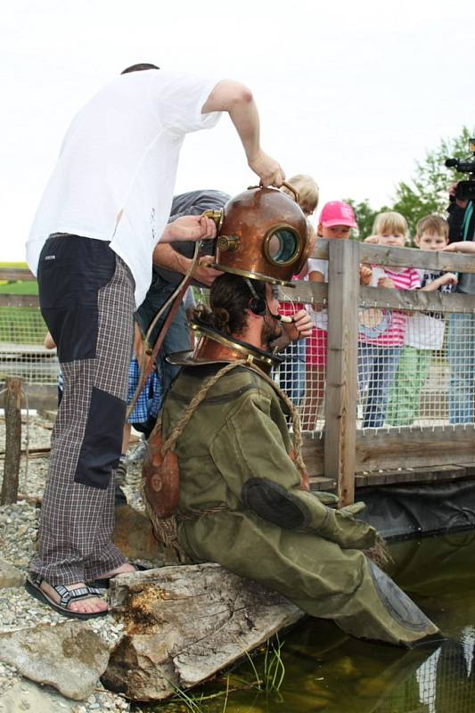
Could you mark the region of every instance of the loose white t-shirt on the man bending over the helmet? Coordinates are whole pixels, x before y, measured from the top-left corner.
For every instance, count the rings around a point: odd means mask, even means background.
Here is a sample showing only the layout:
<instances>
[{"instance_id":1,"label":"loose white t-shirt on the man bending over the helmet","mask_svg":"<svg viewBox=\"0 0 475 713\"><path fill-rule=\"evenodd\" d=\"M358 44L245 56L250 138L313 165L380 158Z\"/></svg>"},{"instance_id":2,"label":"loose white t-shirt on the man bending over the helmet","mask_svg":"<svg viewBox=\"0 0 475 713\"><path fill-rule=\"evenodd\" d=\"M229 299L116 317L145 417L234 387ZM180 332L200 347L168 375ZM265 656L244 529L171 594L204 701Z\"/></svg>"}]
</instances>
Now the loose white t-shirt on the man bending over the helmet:
<instances>
[{"instance_id":1,"label":"loose white t-shirt on the man bending over the helmet","mask_svg":"<svg viewBox=\"0 0 475 713\"><path fill-rule=\"evenodd\" d=\"M216 125L220 113L201 109L218 81L130 72L78 111L29 234L27 261L35 275L52 233L111 241L134 276L135 303L141 304L152 279L152 251L167 224L184 135Z\"/></svg>"}]
</instances>

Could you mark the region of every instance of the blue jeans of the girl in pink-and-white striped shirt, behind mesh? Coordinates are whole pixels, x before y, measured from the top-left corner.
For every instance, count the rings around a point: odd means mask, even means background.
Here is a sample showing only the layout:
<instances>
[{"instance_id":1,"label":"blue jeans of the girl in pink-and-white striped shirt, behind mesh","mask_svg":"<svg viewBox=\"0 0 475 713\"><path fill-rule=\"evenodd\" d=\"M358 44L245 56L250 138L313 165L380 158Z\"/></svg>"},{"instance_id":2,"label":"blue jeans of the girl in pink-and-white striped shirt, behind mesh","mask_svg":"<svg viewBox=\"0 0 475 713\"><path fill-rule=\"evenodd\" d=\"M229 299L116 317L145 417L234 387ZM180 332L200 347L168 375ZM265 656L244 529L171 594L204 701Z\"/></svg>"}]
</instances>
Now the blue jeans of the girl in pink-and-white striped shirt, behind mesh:
<instances>
[{"instance_id":1,"label":"blue jeans of the girl in pink-and-white striped shirt, behind mesh","mask_svg":"<svg viewBox=\"0 0 475 713\"><path fill-rule=\"evenodd\" d=\"M364 429L379 429L384 424L389 389L395 379L401 347L358 346L358 388L360 397L368 389L363 414Z\"/></svg>"}]
</instances>

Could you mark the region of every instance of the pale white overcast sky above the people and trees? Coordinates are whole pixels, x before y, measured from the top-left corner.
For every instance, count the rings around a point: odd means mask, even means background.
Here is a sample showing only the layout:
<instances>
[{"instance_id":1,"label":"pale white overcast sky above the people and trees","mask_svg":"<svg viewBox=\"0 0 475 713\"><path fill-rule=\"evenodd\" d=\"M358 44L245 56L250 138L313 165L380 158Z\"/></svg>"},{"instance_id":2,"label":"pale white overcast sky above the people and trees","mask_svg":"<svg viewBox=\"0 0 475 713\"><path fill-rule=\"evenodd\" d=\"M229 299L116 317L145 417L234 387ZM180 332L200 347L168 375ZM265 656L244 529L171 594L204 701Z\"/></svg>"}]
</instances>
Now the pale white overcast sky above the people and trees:
<instances>
[{"instance_id":1,"label":"pale white overcast sky above the people and trees","mask_svg":"<svg viewBox=\"0 0 475 713\"><path fill-rule=\"evenodd\" d=\"M262 146L322 201L388 201L475 126L472 0L11 0L0 22L2 260L24 242L74 113L127 65L250 86ZM254 182L231 122L184 142L176 192Z\"/></svg>"}]
</instances>

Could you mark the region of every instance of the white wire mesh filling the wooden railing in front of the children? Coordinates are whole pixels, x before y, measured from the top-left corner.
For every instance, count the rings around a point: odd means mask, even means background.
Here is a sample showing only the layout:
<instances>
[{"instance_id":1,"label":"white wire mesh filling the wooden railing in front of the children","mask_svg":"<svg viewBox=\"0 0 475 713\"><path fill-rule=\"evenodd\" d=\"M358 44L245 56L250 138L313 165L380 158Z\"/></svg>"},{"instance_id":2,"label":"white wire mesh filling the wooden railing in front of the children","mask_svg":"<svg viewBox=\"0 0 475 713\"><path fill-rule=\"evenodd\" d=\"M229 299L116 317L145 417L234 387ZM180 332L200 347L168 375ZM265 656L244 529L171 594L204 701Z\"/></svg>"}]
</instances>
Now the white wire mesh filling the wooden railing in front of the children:
<instances>
[{"instance_id":1,"label":"white wire mesh filling the wooden railing in front of the children","mask_svg":"<svg viewBox=\"0 0 475 713\"><path fill-rule=\"evenodd\" d=\"M311 307L310 307L311 309ZM455 425L474 422L475 317L365 307L357 347L359 428ZM381 339L397 323L391 342ZM407 338L409 332L409 338ZM415 337L417 336L417 339ZM291 345L276 379L299 406L302 429L324 427L328 339L315 326L307 341Z\"/></svg>"}]
</instances>

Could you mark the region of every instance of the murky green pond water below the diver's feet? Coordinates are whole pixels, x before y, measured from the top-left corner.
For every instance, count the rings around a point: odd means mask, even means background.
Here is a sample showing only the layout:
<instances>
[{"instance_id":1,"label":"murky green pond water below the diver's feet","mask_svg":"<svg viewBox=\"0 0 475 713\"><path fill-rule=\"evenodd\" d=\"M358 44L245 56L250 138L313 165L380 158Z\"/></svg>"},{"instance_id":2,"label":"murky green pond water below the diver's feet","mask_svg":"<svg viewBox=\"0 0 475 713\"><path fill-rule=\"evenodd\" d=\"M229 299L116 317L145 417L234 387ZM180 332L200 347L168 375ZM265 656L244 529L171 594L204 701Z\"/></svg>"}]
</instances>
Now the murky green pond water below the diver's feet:
<instances>
[{"instance_id":1,"label":"murky green pond water below the diver's feet","mask_svg":"<svg viewBox=\"0 0 475 713\"><path fill-rule=\"evenodd\" d=\"M399 543L391 546L391 554L394 563L389 573L442 629L444 642L405 651L358 641L331 622L306 619L281 636L285 675L278 693L259 693L252 685L256 675L246 662L226 675L227 697L208 698L223 693L223 676L219 682L194 691L191 703L142 710L474 713L475 532ZM253 665L262 677L265 656L254 658ZM201 694L207 698L200 701Z\"/></svg>"}]
</instances>

